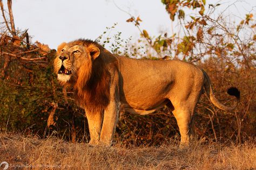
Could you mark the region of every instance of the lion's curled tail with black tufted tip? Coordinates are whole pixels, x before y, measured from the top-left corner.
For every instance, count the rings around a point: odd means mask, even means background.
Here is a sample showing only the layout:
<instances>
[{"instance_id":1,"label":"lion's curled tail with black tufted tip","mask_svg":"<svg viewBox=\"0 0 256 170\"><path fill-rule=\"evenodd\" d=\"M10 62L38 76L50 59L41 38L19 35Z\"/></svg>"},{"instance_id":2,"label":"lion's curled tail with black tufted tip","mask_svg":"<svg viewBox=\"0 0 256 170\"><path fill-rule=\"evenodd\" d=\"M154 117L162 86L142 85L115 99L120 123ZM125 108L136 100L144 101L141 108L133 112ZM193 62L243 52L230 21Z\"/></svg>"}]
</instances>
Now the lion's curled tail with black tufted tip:
<instances>
[{"instance_id":1,"label":"lion's curled tail with black tufted tip","mask_svg":"<svg viewBox=\"0 0 256 170\"><path fill-rule=\"evenodd\" d=\"M210 101L212 102L212 104L214 104L219 109L226 110L226 111L233 110L235 107L237 107L237 105L240 101L240 91L235 87L231 87L227 90L227 93L229 95L235 96L237 98L237 102L235 103L235 105L233 107L227 107L226 105L220 103L217 98L215 98L213 90L212 90L212 84L211 84L210 78L203 69L202 69L202 71L203 71L204 77L205 77L205 83L204 83L205 91L206 91L208 98L210 98Z\"/></svg>"}]
</instances>

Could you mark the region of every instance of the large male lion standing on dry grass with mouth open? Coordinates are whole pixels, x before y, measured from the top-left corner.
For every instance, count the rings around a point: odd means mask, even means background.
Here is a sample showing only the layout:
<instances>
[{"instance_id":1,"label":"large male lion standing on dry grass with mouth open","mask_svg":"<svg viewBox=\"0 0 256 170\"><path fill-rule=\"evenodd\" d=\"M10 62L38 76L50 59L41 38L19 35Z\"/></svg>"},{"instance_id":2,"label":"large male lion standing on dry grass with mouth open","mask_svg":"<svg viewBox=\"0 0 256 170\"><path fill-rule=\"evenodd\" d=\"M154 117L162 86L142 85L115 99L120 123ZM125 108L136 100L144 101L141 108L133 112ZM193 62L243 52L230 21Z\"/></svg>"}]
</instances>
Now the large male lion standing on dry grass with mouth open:
<instances>
[{"instance_id":1,"label":"large male lion standing on dry grass with mouth open","mask_svg":"<svg viewBox=\"0 0 256 170\"><path fill-rule=\"evenodd\" d=\"M111 145L120 106L146 115L167 105L177 120L181 144L188 144L194 109L204 89L222 110L234 109L240 98L240 91L232 87L227 93L237 103L234 107L221 104L208 75L191 63L117 56L91 40L60 44L54 66L59 82L72 87L75 100L85 109L91 145Z\"/></svg>"}]
</instances>

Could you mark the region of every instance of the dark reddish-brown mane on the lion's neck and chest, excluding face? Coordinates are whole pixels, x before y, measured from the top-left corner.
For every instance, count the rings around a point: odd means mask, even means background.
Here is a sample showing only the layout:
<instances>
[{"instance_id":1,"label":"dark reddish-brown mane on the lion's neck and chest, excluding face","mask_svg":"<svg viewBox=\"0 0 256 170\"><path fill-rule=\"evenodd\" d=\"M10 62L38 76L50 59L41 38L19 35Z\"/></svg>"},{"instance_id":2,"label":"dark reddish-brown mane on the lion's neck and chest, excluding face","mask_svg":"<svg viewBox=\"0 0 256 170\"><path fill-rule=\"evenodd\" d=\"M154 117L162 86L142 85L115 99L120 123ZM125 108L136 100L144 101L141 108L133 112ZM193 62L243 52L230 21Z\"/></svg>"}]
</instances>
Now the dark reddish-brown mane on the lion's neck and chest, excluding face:
<instances>
[{"instance_id":1,"label":"dark reddish-brown mane on the lion's neck and chest, excluding face","mask_svg":"<svg viewBox=\"0 0 256 170\"><path fill-rule=\"evenodd\" d=\"M86 81L74 87L75 96L78 104L89 112L103 111L110 102L110 73L106 68L106 63L102 57L104 49L97 42L87 39L78 39L70 42L69 44L84 45L89 47L91 45L100 49L100 54L95 60L90 60L91 63L84 63L85 67L80 72L90 72L90 78L79 77L78 80ZM81 69L81 68L80 68ZM80 74L87 75L87 74ZM88 75L87 75L88 76Z\"/></svg>"}]
</instances>

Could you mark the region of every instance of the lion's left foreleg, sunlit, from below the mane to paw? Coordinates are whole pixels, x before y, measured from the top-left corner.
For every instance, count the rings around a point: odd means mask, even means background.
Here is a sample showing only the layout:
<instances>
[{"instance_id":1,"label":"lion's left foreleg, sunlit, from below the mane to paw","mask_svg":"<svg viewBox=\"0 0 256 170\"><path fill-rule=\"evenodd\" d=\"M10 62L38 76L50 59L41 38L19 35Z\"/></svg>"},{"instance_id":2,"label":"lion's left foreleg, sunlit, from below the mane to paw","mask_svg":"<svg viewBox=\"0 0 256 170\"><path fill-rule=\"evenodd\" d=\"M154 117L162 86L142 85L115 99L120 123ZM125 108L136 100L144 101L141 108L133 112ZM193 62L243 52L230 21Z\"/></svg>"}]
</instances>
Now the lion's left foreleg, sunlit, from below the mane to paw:
<instances>
[{"instance_id":1,"label":"lion's left foreleg, sunlit, from below the mane to paw","mask_svg":"<svg viewBox=\"0 0 256 170\"><path fill-rule=\"evenodd\" d=\"M88 112L86 117L90 131L90 145L95 146L99 144L100 130L102 129L103 112Z\"/></svg>"}]
</instances>

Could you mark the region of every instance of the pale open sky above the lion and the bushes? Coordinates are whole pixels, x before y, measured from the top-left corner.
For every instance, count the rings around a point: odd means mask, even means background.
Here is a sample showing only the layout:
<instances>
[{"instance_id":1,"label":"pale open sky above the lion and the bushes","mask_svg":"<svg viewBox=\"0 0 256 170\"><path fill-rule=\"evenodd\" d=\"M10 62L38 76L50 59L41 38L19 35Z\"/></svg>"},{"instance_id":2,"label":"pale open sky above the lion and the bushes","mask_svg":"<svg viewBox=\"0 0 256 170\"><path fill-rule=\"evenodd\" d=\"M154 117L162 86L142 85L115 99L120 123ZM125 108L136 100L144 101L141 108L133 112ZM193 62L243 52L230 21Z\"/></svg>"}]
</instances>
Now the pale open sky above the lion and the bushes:
<instances>
[{"instance_id":1,"label":"pale open sky above the lion and the bushes","mask_svg":"<svg viewBox=\"0 0 256 170\"><path fill-rule=\"evenodd\" d=\"M6 0L4 0L6 1ZM150 35L157 36L159 31L170 32L171 20L160 0L115 0L120 8L130 12L133 16L140 16L143 20L142 29ZM57 48L63 41L78 38L95 40L100 34L118 23L113 33L122 32L122 38L133 36L138 38L139 31L126 20L127 13L120 11L113 0L13 0L12 10L16 28L29 29L32 41L36 40L48 44L50 48ZM207 4L222 4L221 9L236 1L206 0ZM6 5L5 5L6 8ZM256 15L256 0L237 2L227 11L238 17L244 17L254 8ZM173 24L174 26L176 23Z\"/></svg>"}]
</instances>

